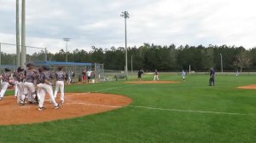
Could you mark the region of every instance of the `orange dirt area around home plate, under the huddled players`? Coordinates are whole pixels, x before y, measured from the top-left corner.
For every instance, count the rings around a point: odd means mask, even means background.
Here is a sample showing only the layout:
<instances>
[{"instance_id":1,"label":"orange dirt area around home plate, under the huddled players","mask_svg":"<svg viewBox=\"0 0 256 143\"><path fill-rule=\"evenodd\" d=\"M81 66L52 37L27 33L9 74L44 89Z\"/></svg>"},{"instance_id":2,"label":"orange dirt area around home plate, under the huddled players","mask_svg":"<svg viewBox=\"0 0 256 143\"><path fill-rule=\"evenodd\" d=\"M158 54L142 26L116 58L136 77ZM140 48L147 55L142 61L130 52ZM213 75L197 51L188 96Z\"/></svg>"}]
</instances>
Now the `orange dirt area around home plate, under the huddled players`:
<instances>
[{"instance_id":1,"label":"orange dirt area around home plate, under the huddled players","mask_svg":"<svg viewBox=\"0 0 256 143\"><path fill-rule=\"evenodd\" d=\"M47 95L48 96L48 95ZM60 96L57 96L57 101ZM65 103L59 109L44 102L44 111L38 111L38 106L19 106L14 96L7 96L0 100L0 125L42 123L57 119L82 117L85 115L108 112L131 104L131 99L117 94L99 93L66 93Z\"/></svg>"}]
</instances>

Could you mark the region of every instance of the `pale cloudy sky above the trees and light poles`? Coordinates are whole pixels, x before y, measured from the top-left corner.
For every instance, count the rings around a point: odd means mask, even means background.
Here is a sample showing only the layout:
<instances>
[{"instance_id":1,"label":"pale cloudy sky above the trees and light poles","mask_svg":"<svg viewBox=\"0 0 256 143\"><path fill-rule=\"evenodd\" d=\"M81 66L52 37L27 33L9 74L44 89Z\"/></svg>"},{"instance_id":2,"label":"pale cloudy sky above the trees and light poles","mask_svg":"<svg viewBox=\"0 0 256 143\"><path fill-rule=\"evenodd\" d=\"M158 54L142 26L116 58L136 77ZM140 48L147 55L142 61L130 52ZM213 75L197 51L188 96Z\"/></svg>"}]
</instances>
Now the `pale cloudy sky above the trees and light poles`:
<instances>
[{"instance_id":1,"label":"pale cloudy sky above the trees and light poles","mask_svg":"<svg viewBox=\"0 0 256 143\"><path fill-rule=\"evenodd\" d=\"M70 37L71 51L124 47L120 14L127 10L128 46L227 44L251 49L256 47L255 5L253 0L26 0L26 45L55 53L65 49L62 38ZM0 0L0 18L0 42L15 43L15 0Z\"/></svg>"}]
</instances>

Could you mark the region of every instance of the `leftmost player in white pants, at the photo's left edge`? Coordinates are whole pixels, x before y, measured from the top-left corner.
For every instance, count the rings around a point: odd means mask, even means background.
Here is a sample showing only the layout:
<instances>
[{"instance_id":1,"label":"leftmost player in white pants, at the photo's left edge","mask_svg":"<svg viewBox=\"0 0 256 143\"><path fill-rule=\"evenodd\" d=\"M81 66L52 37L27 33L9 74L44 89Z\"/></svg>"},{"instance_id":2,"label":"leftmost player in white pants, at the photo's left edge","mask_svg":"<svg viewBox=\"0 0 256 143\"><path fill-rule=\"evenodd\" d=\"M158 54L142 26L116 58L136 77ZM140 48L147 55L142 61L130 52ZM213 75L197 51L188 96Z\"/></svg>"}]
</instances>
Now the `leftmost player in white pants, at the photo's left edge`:
<instances>
[{"instance_id":1,"label":"leftmost player in white pants, at the photo's left edge","mask_svg":"<svg viewBox=\"0 0 256 143\"><path fill-rule=\"evenodd\" d=\"M2 73L1 78L2 78L3 82L1 83L2 89L0 92L0 100L3 100L3 96L6 92L6 89L8 89L8 87L9 87L9 77L11 77L10 71L11 70L9 68L5 68L4 72Z\"/></svg>"}]
</instances>

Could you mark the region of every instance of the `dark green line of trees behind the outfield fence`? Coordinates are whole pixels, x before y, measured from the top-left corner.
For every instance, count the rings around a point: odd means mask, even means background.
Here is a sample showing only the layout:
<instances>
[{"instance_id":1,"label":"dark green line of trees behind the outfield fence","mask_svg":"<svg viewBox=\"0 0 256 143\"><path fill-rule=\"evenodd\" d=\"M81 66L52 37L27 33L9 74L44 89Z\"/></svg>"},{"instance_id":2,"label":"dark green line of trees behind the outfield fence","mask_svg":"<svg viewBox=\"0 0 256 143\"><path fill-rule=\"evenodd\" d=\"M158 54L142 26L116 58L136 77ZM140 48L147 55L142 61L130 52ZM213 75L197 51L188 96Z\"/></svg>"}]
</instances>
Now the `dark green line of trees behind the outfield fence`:
<instances>
[{"instance_id":1,"label":"dark green line of trees behind the outfield fence","mask_svg":"<svg viewBox=\"0 0 256 143\"><path fill-rule=\"evenodd\" d=\"M236 46L217 46L209 45L207 47L174 44L169 46L160 46L144 43L140 47L127 48L128 54L128 71L134 71L143 68L145 71L181 71L189 70L195 72L207 72L211 67L217 71L221 70L221 60L224 72L242 72L256 70L256 48L245 49ZM2 53L2 64L8 64L14 61L14 54ZM44 60L44 51L27 55L27 60ZM125 69L125 48L111 47L110 49L91 47L90 51L84 49L75 49L68 52L68 61L70 62L90 62L102 63L107 70ZM52 61L66 61L66 52L61 49L59 52L52 54L47 52L47 59ZM222 58L222 59L221 59Z\"/></svg>"}]
</instances>

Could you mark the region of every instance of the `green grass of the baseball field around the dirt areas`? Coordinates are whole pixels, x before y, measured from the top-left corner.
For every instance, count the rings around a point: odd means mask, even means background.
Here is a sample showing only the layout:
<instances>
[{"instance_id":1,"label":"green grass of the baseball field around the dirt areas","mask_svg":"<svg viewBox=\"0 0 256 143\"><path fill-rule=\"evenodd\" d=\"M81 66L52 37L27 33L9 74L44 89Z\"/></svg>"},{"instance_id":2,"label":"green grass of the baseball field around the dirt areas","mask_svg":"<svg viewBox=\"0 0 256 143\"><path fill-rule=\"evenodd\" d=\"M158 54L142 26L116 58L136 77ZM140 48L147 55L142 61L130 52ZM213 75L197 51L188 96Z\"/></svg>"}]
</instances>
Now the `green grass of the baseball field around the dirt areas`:
<instances>
[{"instance_id":1,"label":"green grass of the baseball field around the dirt areas","mask_svg":"<svg viewBox=\"0 0 256 143\"><path fill-rule=\"evenodd\" d=\"M143 80L151 79L152 75L143 75ZM208 75L187 76L184 82L177 74L160 74L160 79L181 83L131 85L118 81L68 86L67 92L124 94L133 102L112 112L85 117L0 126L0 142L256 142L256 90L236 89L255 84L255 76L217 76L215 87L208 86ZM134 106L253 115L175 112Z\"/></svg>"}]
</instances>

